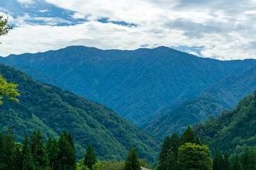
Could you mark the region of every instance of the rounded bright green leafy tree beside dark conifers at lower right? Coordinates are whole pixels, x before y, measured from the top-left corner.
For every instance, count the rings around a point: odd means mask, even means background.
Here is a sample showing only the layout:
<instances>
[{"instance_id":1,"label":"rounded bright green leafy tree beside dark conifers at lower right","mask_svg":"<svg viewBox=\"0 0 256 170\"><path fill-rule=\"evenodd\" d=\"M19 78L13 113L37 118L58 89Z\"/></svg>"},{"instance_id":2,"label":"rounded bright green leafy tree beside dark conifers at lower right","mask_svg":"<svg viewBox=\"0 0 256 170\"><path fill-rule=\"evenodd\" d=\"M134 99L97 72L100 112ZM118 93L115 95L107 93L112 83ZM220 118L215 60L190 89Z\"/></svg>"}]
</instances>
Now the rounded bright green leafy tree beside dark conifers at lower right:
<instances>
[{"instance_id":1,"label":"rounded bright green leafy tree beside dark conifers at lower right","mask_svg":"<svg viewBox=\"0 0 256 170\"><path fill-rule=\"evenodd\" d=\"M179 147L179 169L212 169L211 152L206 145L185 143Z\"/></svg>"}]
</instances>

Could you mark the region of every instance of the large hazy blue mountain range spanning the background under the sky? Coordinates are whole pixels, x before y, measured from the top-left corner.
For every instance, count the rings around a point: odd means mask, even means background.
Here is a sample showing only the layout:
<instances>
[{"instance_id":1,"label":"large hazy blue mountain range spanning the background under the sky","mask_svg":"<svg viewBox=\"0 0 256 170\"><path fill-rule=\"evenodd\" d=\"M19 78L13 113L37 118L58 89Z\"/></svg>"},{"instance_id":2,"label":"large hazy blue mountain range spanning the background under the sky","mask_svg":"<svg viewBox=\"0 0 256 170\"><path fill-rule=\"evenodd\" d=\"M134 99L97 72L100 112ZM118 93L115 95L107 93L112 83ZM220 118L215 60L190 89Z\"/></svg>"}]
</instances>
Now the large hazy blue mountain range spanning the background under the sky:
<instances>
[{"instance_id":1,"label":"large hazy blue mountain range spanning the background under the sky","mask_svg":"<svg viewBox=\"0 0 256 170\"><path fill-rule=\"evenodd\" d=\"M129 51L72 46L0 60L49 74L74 93L112 108L136 125L160 108L192 98L256 64L256 60L201 58L168 47Z\"/></svg>"}]
</instances>

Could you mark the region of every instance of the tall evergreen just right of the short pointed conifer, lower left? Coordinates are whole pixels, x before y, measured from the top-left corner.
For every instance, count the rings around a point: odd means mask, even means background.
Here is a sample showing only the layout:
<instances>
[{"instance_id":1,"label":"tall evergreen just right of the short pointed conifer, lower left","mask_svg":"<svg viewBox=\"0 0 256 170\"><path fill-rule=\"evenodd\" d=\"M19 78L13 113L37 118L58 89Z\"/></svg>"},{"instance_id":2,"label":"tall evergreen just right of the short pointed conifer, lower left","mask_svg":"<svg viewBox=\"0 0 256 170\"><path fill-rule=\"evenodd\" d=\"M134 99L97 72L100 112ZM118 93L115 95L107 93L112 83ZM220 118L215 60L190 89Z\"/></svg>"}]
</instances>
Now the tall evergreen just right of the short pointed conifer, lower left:
<instances>
[{"instance_id":1,"label":"tall evergreen just right of the short pointed conifer, lower left","mask_svg":"<svg viewBox=\"0 0 256 170\"><path fill-rule=\"evenodd\" d=\"M33 132L33 135L30 137L30 141L35 169L49 169L48 155L44 145L43 135L40 134L40 130L38 130L38 132Z\"/></svg>"}]
</instances>

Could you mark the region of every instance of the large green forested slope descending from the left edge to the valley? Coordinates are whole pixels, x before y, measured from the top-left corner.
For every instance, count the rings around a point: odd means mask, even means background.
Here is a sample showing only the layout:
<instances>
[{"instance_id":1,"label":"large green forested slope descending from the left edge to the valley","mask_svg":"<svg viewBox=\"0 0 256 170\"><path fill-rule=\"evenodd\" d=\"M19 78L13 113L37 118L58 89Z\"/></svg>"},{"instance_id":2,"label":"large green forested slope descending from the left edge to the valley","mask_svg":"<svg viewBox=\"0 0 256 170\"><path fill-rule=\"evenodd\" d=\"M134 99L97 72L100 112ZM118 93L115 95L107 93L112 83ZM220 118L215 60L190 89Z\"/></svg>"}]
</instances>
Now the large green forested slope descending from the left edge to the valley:
<instances>
[{"instance_id":1,"label":"large green forested slope descending from the left edge to the valley","mask_svg":"<svg viewBox=\"0 0 256 170\"><path fill-rule=\"evenodd\" d=\"M5 134L10 125L16 142L38 129L45 138L57 138L67 130L74 138L77 159L84 157L84 148L91 142L98 159L124 160L133 146L140 158L155 161L160 142L110 109L4 64L0 64L0 74L19 85L19 102L4 101L0 106L0 132Z\"/></svg>"}]
</instances>

